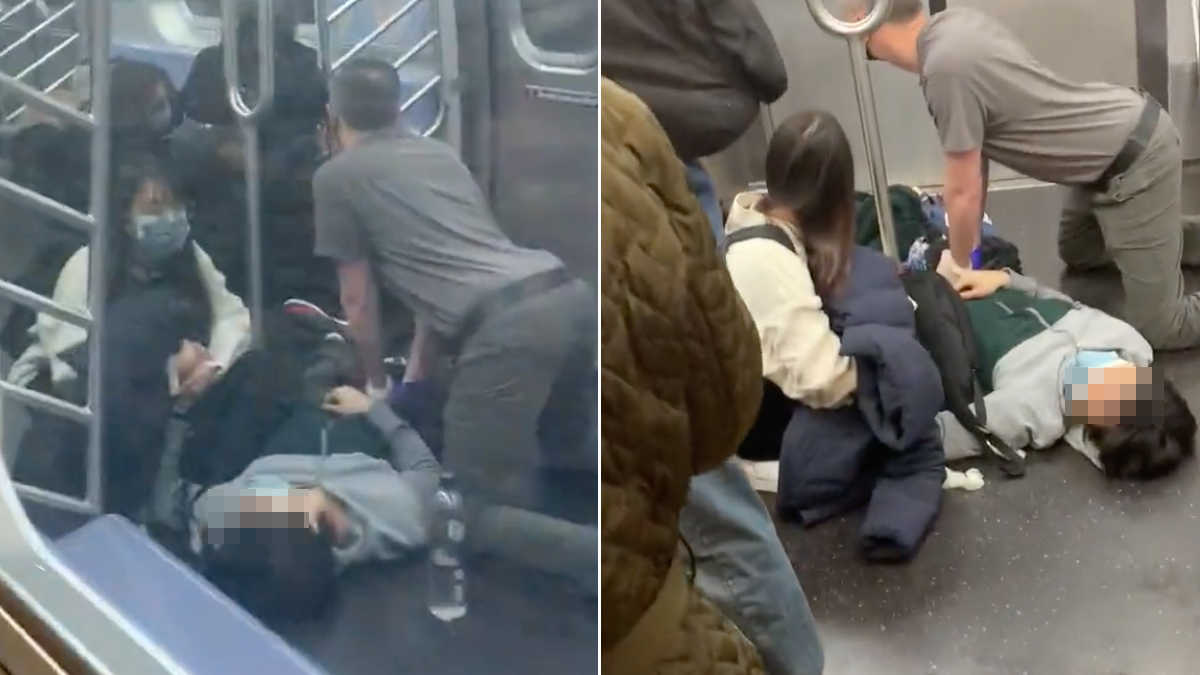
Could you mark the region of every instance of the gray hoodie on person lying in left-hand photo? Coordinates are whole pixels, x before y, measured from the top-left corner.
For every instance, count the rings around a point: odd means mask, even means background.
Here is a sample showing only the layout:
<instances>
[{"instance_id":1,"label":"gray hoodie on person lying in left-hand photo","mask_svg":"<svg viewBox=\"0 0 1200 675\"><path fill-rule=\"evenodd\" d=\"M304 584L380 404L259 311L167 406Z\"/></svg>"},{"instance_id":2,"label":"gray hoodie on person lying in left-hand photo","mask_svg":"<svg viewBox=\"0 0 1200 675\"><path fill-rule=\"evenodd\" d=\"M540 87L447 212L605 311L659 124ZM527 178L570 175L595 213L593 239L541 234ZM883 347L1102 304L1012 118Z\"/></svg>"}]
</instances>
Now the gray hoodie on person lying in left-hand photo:
<instances>
[{"instance_id":1,"label":"gray hoodie on person lying in left-hand photo","mask_svg":"<svg viewBox=\"0 0 1200 675\"><path fill-rule=\"evenodd\" d=\"M350 542L335 549L342 568L374 560L394 560L426 543L426 507L438 486L440 467L428 446L386 405L376 402L367 418L391 444L391 462L361 453L268 455L250 464L235 479L206 490L193 504L196 522L223 527L230 504L239 503L252 483L264 478L289 485L319 485L346 504Z\"/></svg>"}]
</instances>

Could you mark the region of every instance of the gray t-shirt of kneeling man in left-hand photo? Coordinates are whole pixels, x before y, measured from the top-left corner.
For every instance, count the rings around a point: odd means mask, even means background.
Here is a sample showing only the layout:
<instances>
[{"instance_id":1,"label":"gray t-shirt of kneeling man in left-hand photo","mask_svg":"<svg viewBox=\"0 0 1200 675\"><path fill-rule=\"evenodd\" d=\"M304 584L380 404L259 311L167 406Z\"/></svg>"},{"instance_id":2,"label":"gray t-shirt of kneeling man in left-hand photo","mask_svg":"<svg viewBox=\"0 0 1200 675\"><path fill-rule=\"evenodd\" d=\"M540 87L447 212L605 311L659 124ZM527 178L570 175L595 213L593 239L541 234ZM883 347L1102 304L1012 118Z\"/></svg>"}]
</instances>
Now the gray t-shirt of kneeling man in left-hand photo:
<instances>
[{"instance_id":1,"label":"gray t-shirt of kneeling man in left-hand photo","mask_svg":"<svg viewBox=\"0 0 1200 675\"><path fill-rule=\"evenodd\" d=\"M488 293L563 267L504 234L454 148L377 133L313 178L318 256L368 259L379 286L439 335L456 338Z\"/></svg>"}]
</instances>

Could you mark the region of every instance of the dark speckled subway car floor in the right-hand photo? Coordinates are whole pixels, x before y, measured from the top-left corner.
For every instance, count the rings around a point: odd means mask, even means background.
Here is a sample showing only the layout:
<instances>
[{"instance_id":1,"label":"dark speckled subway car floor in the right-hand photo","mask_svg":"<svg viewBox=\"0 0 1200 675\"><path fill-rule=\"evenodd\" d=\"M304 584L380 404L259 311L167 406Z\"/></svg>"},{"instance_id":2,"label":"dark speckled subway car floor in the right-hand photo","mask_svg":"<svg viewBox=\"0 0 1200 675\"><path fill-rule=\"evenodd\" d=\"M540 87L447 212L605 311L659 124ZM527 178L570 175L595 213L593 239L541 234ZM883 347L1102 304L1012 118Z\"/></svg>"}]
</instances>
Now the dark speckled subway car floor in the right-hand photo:
<instances>
[{"instance_id":1,"label":"dark speckled subway car floor in the right-hand photo","mask_svg":"<svg viewBox=\"0 0 1200 675\"><path fill-rule=\"evenodd\" d=\"M1115 277L1061 280L1056 189L996 191L988 213L1025 270L1116 309ZM1200 287L1200 277L1189 279ZM1159 357L1200 412L1200 358ZM1200 462L1148 484L1109 483L1078 453L948 491L917 558L856 554L858 516L779 524L816 616L826 675L1193 675L1200 669ZM768 496L769 500L769 496Z\"/></svg>"}]
</instances>

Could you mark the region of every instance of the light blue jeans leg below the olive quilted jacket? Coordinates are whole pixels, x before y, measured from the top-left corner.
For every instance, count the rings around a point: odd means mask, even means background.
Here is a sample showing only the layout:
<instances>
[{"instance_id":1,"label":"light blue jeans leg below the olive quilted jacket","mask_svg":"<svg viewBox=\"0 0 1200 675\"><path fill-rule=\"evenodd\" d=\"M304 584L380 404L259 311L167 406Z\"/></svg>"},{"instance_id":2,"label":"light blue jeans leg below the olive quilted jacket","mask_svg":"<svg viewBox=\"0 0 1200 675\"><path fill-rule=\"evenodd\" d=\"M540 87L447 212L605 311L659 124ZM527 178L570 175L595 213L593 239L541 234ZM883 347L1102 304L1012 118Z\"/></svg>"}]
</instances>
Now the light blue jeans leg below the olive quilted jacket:
<instances>
[{"instance_id":1,"label":"light blue jeans leg below the olive quilted jacket","mask_svg":"<svg viewBox=\"0 0 1200 675\"><path fill-rule=\"evenodd\" d=\"M821 675L812 610L766 506L734 460L691 480L679 522L696 585L754 643L769 675Z\"/></svg>"}]
</instances>

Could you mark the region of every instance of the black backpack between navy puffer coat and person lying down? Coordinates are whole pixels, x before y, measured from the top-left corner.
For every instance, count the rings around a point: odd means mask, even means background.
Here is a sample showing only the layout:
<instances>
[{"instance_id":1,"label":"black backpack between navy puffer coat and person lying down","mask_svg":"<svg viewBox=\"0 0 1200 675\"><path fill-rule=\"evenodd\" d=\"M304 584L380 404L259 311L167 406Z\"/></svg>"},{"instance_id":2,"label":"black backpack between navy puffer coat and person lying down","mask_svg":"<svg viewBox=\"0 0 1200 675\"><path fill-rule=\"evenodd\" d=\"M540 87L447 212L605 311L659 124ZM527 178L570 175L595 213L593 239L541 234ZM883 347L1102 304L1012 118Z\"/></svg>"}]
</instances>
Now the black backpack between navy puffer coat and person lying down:
<instances>
[{"instance_id":1,"label":"black backpack between navy puffer coat and person lying down","mask_svg":"<svg viewBox=\"0 0 1200 675\"><path fill-rule=\"evenodd\" d=\"M979 384L979 360L967 305L936 271L911 270L901 275L916 303L917 339L934 357L949 411L979 441L982 454L1004 474L1025 474L1025 459L988 430L988 410ZM971 406L974 406L972 411Z\"/></svg>"}]
</instances>

